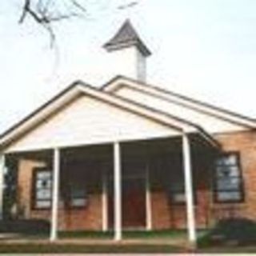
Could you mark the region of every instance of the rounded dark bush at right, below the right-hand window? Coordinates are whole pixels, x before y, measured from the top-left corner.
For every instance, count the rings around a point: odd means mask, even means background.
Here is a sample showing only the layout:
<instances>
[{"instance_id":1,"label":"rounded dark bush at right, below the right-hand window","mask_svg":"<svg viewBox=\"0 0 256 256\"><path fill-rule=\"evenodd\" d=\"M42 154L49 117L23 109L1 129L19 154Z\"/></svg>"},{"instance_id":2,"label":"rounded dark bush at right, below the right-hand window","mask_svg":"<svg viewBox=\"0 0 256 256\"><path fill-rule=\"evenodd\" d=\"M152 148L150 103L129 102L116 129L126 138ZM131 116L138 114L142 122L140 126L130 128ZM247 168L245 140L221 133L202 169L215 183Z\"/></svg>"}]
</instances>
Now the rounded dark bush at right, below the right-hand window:
<instances>
[{"instance_id":1,"label":"rounded dark bush at right, below the right-hand window","mask_svg":"<svg viewBox=\"0 0 256 256\"><path fill-rule=\"evenodd\" d=\"M256 242L256 222L246 218L226 218L199 239L201 246L252 245Z\"/></svg>"}]
</instances>

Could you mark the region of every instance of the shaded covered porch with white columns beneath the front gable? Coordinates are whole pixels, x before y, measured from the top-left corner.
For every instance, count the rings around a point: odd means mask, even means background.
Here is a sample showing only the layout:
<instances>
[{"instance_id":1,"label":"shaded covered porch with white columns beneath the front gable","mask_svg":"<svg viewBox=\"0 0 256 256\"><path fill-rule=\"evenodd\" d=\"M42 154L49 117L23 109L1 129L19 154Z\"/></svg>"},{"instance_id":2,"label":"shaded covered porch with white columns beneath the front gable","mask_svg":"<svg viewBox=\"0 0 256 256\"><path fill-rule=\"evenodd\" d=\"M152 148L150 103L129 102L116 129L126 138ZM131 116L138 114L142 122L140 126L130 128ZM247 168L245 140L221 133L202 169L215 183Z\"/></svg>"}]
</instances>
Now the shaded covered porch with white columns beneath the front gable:
<instances>
[{"instance_id":1,"label":"shaded covered porch with white columns beneath the front gable","mask_svg":"<svg viewBox=\"0 0 256 256\"><path fill-rule=\"evenodd\" d=\"M58 231L113 232L120 241L127 230L187 229L194 243L196 226L208 222L215 152L198 134L183 134L11 153L2 166L16 173L16 217L50 221L51 241Z\"/></svg>"}]
</instances>

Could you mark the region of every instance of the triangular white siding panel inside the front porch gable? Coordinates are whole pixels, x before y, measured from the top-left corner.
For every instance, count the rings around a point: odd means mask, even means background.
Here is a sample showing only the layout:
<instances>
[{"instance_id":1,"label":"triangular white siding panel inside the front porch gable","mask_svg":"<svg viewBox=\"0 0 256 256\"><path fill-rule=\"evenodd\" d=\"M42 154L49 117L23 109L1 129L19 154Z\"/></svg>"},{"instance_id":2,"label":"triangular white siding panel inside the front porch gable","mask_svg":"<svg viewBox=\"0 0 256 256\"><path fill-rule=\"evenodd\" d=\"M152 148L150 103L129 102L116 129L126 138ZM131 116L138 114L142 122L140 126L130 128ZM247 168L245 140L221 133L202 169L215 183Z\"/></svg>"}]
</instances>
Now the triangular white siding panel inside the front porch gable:
<instances>
[{"instance_id":1,"label":"triangular white siding panel inside the front porch gable","mask_svg":"<svg viewBox=\"0 0 256 256\"><path fill-rule=\"evenodd\" d=\"M177 135L177 131L89 96L81 96L19 138L6 152L171 135Z\"/></svg>"}]
</instances>

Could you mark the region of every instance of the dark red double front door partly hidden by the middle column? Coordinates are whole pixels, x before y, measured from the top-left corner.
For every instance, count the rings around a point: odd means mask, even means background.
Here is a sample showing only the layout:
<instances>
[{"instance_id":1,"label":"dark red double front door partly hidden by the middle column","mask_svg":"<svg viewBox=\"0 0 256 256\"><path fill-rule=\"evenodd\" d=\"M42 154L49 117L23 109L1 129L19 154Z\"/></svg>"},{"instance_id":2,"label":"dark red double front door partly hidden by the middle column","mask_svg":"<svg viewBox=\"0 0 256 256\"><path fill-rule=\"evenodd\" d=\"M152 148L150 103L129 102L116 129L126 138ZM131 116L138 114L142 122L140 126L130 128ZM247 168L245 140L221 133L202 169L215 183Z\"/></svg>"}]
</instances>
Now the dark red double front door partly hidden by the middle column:
<instances>
[{"instance_id":1,"label":"dark red double front door partly hidden by the middle column","mask_svg":"<svg viewBox=\"0 0 256 256\"><path fill-rule=\"evenodd\" d=\"M109 183L108 222L110 229L114 223L113 181ZM144 178L124 178L122 180L122 227L139 229L146 226L146 188Z\"/></svg>"}]
</instances>

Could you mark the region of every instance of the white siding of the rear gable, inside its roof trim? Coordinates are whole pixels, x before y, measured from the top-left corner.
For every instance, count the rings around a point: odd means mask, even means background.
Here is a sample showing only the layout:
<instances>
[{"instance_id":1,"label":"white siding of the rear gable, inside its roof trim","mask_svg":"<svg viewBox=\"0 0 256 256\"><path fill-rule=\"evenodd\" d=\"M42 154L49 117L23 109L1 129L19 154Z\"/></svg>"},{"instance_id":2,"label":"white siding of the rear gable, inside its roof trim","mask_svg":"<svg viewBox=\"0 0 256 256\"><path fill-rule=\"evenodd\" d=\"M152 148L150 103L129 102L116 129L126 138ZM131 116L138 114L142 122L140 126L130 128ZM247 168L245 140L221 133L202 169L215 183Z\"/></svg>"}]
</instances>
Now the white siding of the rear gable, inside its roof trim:
<instances>
[{"instance_id":1,"label":"white siding of the rear gable, inside its roof trim","mask_svg":"<svg viewBox=\"0 0 256 256\"><path fill-rule=\"evenodd\" d=\"M118 94L123 98L129 98L135 102L143 102L143 104L154 107L157 110L164 110L166 113L174 114L179 118L194 122L199 126L202 126L202 128L210 133L244 129L242 126L238 126L237 124L223 120L222 118L217 118L213 115L205 114L198 110L193 110L192 108L181 106L174 102L167 102L161 98L151 96L150 94L133 90L128 86L120 87L119 90L115 91L115 94Z\"/></svg>"}]
</instances>

